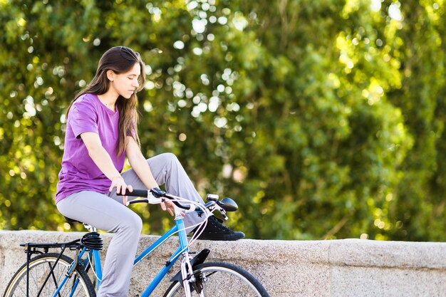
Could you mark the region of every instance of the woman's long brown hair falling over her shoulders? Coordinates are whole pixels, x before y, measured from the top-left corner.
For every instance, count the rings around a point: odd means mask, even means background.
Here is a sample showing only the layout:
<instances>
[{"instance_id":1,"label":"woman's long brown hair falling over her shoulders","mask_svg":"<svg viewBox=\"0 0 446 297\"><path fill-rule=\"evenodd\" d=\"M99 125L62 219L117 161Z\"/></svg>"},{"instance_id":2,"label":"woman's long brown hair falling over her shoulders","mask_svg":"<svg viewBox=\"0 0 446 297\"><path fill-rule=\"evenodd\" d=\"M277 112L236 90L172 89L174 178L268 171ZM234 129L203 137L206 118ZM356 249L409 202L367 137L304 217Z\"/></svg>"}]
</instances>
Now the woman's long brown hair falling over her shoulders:
<instances>
[{"instance_id":1,"label":"woman's long brown hair falling over her shoulders","mask_svg":"<svg viewBox=\"0 0 446 297\"><path fill-rule=\"evenodd\" d=\"M93 80L91 80L85 89L76 94L76 97L71 100L66 110L66 119L68 120L68 113L71 106L81 95L86 93L102 95L108 91L110 81L107 78L107 71L111 70L117 74L125 73L130 71L135 63L139 63L141 66L141 75L138 77L138 88L129 99L125 99L120 95L118 100L116 100L116 107L119 110L118 155L121 155L125 151L125 137L127 135L133 136L138 145L140 144L137 130L138 110L136 109L136 104L138 103L138 99L136 93L144 88L145 65L138 52L125 46L115 46L106 51L99 60L98 69Z\"/></svg>"}]
</instances>

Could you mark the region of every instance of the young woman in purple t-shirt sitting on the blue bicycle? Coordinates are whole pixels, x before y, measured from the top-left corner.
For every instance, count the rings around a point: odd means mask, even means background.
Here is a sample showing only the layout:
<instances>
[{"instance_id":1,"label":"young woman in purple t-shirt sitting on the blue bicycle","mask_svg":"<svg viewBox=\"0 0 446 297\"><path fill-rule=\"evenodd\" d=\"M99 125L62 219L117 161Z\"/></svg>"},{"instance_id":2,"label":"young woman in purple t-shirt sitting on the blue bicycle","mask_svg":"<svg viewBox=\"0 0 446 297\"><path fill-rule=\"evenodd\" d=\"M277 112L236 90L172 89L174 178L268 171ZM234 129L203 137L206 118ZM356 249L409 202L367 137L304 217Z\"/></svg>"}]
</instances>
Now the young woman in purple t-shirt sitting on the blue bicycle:
<instances>
[{"instance_id":1,"label":"young woman in purple t-shirt sitting on the blue bicycle","mask_svg":"<svg viewBox=\"0 0 446 297\"><path fill-rule=\"evenodd\" d=\"M128 296L142 221L125 207L125 194L135 188L165 184L167 192L204 203L177 157L170 153L148 160L142 155L136 123L136 93L142 90L145 65L130 48L110 48L100 58L95 77L67 110L65 148L56 205L65 217L113 232L98 297ZM122 172L125 157L131 169ZM172 213L171 204L161 204ZM187 214L185 225L202 219ZM232 231L209 218L200 239L237 240Z\"/></svg>"}]
</instances>

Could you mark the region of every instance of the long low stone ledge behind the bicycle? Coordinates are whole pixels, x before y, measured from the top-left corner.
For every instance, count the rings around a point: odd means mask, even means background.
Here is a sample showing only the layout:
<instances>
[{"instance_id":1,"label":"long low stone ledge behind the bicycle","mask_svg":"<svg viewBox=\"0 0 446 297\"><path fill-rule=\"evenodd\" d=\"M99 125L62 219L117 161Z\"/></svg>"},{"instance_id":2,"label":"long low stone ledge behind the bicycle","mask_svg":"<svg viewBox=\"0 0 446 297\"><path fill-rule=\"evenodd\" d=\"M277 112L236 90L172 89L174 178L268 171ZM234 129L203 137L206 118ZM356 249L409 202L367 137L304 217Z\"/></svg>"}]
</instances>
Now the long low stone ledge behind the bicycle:
<instances>
[{"instance_id":1,"label":"long low stone ledge behind the bicycle","mask_svg":"<svg viewBox=\"0 0 446 297\"><path fill-rule=\"evenodd\" d=\"M0 231L0 295L26 261L24 242L62 242L79 232ZM101 234L105 248L112 235ZM143 235L140 251L158 236ZM138 296L175 249L170 239L135 267L130 296ZM209 259L238 264L259 278L271 296L446 296L446 244L369 241L198 241L192 249L210 249ZM70 254L68 254L71 256ZM177 267L175 271L177 271ZM171 273L171 274L172 274ZM153 296L162 296L168 280Z\"/></svg>"}]
</instances>

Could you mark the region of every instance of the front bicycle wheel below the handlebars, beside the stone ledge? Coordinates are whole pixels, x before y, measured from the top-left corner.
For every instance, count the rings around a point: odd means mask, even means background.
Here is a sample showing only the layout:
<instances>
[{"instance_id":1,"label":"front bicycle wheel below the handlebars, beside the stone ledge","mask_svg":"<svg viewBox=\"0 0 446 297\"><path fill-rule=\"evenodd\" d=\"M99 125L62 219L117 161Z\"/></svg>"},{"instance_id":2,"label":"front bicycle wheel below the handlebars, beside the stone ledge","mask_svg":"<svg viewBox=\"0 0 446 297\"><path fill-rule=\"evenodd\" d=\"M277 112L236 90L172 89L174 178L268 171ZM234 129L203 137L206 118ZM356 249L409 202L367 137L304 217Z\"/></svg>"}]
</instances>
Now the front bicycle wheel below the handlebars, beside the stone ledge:
<instances>
[{"instance_id":1,"label":"front bicycle wheel below the handlebars, beside the stone ledge","mask_svg":"<svg viewBox=\"0 0 446 297\"><path fill-rule=\"evenodd\" d=\"M201 296L212 297L269 297L261 283L248 271L234 264L226 262L205 262L194 267L194 275L197 278L196 286L192 291L192 297L200 296L197 286L202 284ZM203 280L203 276L206 281ZM182 283L174 281L164 297L185 296Z\"/></svg>"}]
</instances>

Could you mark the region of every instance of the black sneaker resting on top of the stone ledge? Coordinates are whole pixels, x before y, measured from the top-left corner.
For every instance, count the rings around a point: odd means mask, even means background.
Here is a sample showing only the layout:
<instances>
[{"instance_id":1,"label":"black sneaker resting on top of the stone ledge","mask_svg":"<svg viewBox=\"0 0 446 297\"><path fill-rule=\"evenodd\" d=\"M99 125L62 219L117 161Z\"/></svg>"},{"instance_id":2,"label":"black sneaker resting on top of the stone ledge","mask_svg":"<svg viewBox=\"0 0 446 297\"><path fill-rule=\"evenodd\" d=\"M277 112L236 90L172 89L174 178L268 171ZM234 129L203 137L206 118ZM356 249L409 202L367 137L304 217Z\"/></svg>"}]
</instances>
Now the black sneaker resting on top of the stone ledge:
<instances>
[{"instance_id":1,"label":"black sneaker resting on top of the stone ledge","mask_svg":"<svg viewBox=\"0 0 446 297\"><path fill-rule=\"evenodd\" d=\"M232 231L227 226L222 224L221 219L217 219L214 216L207 219L206 228L203 233L198 237L202 240L221 240L221 241L233 241L244 238L244 233L240 231ZM199 233L200 229L194 231L194 234Z\"/></svg>"}]
</instances>

